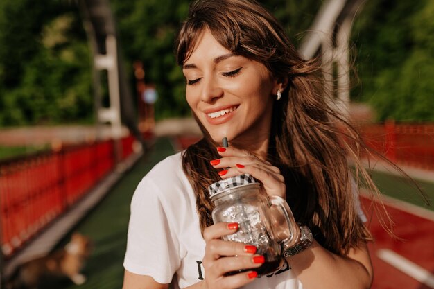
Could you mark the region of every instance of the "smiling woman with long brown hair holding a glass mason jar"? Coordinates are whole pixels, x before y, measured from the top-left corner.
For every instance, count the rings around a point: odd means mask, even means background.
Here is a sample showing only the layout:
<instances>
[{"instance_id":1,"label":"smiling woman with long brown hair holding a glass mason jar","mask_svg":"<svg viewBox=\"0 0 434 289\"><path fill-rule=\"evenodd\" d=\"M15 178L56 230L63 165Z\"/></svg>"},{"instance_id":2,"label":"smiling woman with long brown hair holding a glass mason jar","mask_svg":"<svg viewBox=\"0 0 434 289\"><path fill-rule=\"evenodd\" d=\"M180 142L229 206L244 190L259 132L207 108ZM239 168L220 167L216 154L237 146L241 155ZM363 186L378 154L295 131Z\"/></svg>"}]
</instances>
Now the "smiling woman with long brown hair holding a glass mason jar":
<instances>
[{"instance_id":1,"label":"smiling woman with long brown hair holding a glass mason jar","mask_svg":"<svg viewBox=\"0 0 434 289\"><path fill-rule=\"evenodd\" d=\"M340 141L342 131L356 137L327 106L320 67L253 0L196 1L175 49L204 138L157 164L134 193L124 288L370 288L370 234L347 165L356 154ZM286 198L313 234L268 277L228 276L263 259L220 239L238 224L211 220L207 186L242 173Z\"/></svg>"}]
</instances>

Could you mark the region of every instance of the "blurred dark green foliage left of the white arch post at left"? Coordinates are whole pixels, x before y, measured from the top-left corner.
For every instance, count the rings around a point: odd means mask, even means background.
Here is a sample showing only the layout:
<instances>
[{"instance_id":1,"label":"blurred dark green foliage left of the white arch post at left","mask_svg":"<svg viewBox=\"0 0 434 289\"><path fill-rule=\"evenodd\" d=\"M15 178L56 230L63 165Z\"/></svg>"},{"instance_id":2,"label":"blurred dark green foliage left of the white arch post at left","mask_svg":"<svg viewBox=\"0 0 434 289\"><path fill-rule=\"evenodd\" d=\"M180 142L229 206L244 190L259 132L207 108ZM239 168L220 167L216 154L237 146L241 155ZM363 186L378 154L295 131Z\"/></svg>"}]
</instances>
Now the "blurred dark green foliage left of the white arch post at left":
<instances>
[{"instance_id":1,"label":"blurred dark green foliage left of the white arch post at left","mask_svg":"<svg viewBox=\"0 0 434 289\"><path fill-rule=\"evenodd\" d=\"M92 116L90 55L76 6L3 0L0 43L0 125Z\"/></svg>"}]
</instances>

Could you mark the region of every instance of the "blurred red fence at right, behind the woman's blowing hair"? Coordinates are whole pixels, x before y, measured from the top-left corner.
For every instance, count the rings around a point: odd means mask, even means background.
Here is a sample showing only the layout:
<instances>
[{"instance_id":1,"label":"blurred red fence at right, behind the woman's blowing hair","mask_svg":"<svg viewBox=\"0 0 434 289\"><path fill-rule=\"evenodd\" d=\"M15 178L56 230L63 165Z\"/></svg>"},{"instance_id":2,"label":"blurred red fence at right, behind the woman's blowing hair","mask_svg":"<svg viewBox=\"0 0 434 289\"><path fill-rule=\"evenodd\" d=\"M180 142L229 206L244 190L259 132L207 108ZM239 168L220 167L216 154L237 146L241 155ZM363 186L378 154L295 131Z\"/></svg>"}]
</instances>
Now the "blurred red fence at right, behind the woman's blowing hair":
<instances>
[{"instance_id":1,"label":"blurred red fence at right, behind the woman's blowing hair","mask_svg":"<svg viewBox=\"0 0 434 289\"><path fill-rule=\"evenodd\" d=\"M434 124L364 125L360 130L368 146L397 164L434 170Z\"/></svg>"}]
</instances>

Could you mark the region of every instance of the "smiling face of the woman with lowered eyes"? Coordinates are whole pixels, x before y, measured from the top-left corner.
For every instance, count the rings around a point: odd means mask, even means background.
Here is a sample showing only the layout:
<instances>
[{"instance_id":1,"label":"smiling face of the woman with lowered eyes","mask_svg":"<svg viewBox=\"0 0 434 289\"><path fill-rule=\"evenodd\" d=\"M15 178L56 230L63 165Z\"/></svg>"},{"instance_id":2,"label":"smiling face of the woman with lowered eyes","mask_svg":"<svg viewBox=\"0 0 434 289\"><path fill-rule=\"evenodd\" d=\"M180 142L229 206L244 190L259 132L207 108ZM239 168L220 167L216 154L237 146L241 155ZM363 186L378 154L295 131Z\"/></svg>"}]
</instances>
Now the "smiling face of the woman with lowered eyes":
<instances>
[{"instance_id":1,"label":"smiling face of the woman with lowered eyes","mask_svg":"<svg viewBox=\"0 0 434 289\"><path fill-rule=\"evenodd\" d=\"M268 141L278 87L263 64L234 55L205 30L182 71L186 100L214 141Z\"/></svg>"}]
</instances>

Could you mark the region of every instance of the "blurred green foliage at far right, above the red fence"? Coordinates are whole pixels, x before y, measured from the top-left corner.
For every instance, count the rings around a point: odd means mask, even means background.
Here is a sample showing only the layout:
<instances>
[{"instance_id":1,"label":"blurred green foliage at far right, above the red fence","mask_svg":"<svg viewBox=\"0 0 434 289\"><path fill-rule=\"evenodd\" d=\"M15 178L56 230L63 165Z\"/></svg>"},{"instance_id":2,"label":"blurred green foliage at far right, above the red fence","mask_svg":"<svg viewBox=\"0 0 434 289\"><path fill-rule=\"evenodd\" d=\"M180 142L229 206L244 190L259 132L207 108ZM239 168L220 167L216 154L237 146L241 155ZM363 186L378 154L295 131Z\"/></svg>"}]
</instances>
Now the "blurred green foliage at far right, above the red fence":
<instances>
[{"instance_id":1,"label":"blurred green foliage at far right, above the red fence","mask_svg":"<svg viewBox=\"0 0 434 289\"><path fill-rule=\"evenodd\" d=\"M434 121L434 2L367 1L354 28L361 100L379 120ZM356 99L356 98L355 98Z\"/></svg>"}]
</instances>

